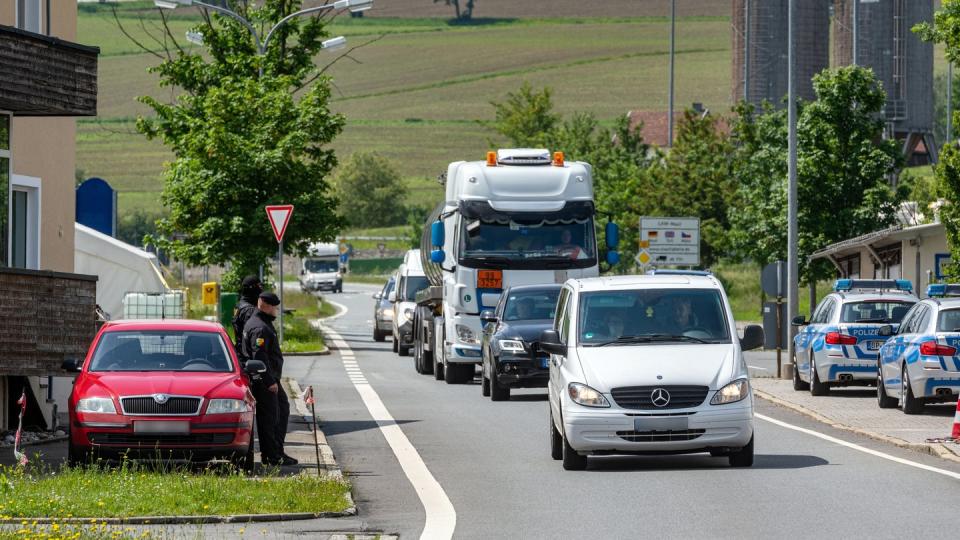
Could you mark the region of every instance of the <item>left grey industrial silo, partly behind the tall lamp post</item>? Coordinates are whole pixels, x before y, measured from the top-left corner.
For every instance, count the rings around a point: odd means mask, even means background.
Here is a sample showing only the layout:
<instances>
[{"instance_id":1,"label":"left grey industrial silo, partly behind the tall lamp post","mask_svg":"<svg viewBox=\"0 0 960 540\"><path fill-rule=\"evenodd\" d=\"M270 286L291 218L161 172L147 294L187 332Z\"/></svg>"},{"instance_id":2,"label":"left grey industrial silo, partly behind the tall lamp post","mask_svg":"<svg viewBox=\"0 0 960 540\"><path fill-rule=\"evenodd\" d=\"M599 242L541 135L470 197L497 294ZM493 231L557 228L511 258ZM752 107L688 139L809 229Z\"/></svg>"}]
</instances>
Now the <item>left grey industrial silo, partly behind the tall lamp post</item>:
<instances>
[{"instance_id":1,"label":"left grey industrial silo, partly behind the tall lamp post","mask_svg":"<svg viewBox=\"0 0 960 540\"><path fill-rule=\"evenodd\" d=\"M830 64L829 2L795 2L795 76L797 95L802 99L816 97L811 79ZM787 96L787 13L787 0L733 0L734 101L747 98L757 105L765 100L783 105Z\"/></svg>"}]
</instances>

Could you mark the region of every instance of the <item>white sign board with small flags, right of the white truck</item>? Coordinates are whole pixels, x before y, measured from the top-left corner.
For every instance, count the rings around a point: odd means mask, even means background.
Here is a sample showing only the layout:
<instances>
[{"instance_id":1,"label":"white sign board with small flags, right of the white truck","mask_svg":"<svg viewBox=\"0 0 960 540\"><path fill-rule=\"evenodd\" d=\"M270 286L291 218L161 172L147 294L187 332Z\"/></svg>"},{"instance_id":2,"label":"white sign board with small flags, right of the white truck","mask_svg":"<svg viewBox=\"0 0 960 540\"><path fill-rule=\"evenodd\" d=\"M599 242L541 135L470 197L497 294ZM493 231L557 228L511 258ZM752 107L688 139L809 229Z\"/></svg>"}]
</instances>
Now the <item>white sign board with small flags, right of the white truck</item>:
<instances>
[{"instance_id":1,"label":"white sign board with small flags, right of the white truck","mask_svg":"<svg viewBox=\"0 0 960 540\"><path fill-rule=\"evenodd\" d=\"M654 266L700 265L700 218L643 216L640 241L649 243Z\"/></svg>"}]
</instances>

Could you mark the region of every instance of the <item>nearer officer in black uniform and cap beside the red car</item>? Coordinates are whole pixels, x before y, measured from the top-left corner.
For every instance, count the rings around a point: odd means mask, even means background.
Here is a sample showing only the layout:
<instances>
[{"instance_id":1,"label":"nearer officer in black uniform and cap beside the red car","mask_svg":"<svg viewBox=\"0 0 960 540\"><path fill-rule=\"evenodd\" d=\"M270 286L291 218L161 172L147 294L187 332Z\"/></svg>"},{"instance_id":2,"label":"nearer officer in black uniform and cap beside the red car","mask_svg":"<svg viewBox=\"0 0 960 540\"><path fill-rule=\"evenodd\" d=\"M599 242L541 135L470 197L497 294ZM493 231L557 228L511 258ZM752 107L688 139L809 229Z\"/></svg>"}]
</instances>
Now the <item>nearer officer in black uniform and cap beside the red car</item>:
<instances>
[{"instance_id":1,"label":"nearer officer in black uniform and cap beside the red car","mask_svg":"<svg viewBox=\"0 0 960 540\"><path fill-rule=\"evenodd\" d=\"M280 386L283 374L283 354L273 327L280 311L280 299L271 292L260 293L257 309L243 328L244 356L260 360L267 371L253 382L253 397L257 400L257 432L260 437L260 461L264 465L296 465L297 460L283 452L290 418L290 402Z\"/></svg>"}]
</instances>

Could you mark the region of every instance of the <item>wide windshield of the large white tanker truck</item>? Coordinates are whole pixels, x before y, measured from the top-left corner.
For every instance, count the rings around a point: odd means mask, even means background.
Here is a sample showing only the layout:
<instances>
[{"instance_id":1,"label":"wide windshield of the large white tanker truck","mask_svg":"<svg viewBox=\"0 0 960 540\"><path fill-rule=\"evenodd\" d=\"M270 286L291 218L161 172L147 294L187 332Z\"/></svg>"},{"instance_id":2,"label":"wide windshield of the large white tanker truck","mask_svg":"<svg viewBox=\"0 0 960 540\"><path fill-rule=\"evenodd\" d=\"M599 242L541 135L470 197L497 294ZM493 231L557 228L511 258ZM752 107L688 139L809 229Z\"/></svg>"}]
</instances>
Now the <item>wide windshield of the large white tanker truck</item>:
<instances>
[{"instance_id":1,"label":"wide windshield of the large white tanker truck","mask_svg":"<svg viewBox=\"0 0 960 540\"><path fill-rule=\"evenodd\" d=\"M593 219L462 221L460 261L486 266L585 268L596 264Z\"/></svg>"}]
</instances>

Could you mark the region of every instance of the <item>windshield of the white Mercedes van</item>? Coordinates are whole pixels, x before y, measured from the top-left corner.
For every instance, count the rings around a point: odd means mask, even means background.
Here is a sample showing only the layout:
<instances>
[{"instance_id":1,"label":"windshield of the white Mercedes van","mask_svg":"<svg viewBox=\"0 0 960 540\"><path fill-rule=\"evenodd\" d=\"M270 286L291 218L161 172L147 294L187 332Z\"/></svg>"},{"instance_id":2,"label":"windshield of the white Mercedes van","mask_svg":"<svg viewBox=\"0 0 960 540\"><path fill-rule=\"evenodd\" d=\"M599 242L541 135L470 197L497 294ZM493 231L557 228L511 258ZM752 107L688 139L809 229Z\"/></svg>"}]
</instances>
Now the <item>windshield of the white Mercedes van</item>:
<instances>
[{"instance_id":1,"label":"windshield of the white Mercedes van","mask_svg":"<svg viewBox=\"0 0 960 540\"><path fill-rule=\"evenodd\" d=\"M584 293L579 321L584 346L731 342L726 309L715 289Z\"/></svg>"}]
</instances>

